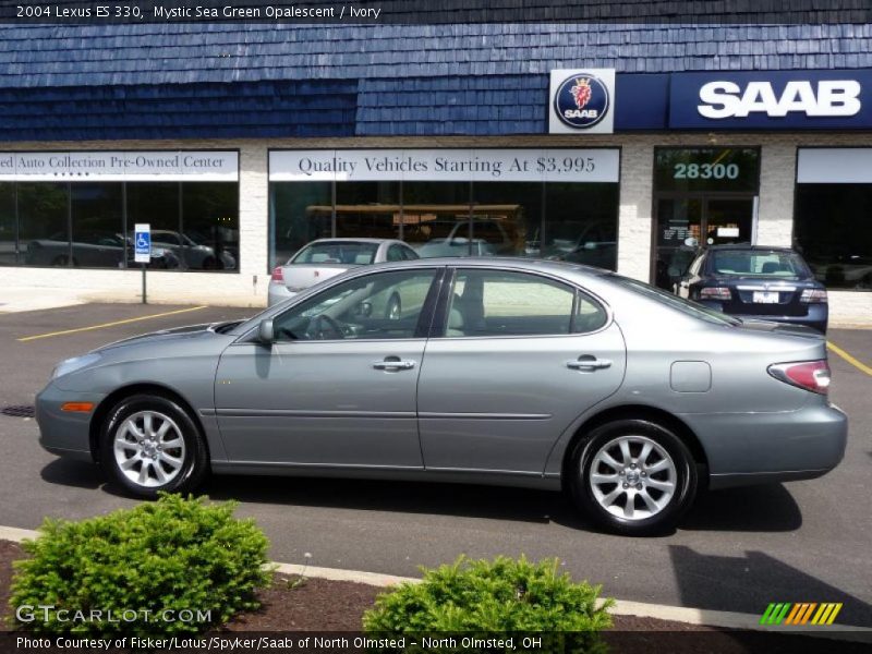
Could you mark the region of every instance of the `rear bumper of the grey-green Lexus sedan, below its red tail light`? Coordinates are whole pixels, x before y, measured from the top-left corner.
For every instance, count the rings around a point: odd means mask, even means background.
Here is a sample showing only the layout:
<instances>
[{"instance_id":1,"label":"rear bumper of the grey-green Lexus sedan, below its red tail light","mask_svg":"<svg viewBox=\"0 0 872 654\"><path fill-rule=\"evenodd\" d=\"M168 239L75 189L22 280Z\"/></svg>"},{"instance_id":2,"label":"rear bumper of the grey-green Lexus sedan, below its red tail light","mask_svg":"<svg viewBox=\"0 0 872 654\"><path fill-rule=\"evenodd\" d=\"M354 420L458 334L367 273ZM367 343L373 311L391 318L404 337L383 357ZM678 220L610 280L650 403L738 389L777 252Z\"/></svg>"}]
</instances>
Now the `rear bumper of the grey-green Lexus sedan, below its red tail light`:
<instances>
[{"instance_id":1,"label":"rear bumper of the grey-green Lexus sedan, below its red tail light","mask_svg":"<svg viewBox=\"0 0 872 654\"><path fill-rule=\"evenodd\" d=\"M705 450L713 488L821 476L841 461L848 439L848 417L832 404L679 417Z\"/></svg>"}]
</instances>

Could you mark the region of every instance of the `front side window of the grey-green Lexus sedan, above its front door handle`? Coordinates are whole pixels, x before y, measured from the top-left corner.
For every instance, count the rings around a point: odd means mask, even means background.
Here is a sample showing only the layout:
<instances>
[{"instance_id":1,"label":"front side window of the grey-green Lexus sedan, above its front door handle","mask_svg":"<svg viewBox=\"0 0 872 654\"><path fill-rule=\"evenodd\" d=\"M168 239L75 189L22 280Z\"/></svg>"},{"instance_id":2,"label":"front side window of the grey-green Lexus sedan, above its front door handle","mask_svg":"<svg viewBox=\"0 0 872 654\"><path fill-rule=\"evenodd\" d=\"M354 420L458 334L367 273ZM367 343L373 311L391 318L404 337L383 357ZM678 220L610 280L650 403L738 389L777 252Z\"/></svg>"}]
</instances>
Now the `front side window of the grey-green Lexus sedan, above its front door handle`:
<instances>
[{"instance_id":1,"label":"front side window of the grey-green Lexus sedan, above its front door handle","mask_svg":"<svg viewBox=\"0 0 872 654\"><path fill-rule=\"evenodd\" d=\"M414 338L435 269L364 275L272 319L277 341Z\"/></svg>"}]
</instances>

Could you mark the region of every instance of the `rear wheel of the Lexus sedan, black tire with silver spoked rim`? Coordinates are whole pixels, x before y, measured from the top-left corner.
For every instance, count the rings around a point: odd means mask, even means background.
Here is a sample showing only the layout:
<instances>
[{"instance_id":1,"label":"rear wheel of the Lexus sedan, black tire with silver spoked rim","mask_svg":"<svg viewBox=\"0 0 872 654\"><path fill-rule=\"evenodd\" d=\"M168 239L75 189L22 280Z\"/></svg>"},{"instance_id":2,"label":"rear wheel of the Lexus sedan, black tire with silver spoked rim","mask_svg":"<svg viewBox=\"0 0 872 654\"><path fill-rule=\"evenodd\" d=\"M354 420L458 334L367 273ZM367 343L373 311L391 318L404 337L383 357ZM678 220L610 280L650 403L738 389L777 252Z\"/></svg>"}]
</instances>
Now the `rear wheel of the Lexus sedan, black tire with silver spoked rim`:
<instances>
[{"instance_id":1,"label":"rear wheel of the Lexus sedan, black tire with silver spoked rim","mask_svg":"<svg viewBox=\"0 0 872 654\"><path fill-rule=\"evenodd\" d=\"M576 504L626 535L674 528L697 492L690 450L673 432L644 420L597 427L579 443L572 461Z\"/></svg>"}]
</instances>

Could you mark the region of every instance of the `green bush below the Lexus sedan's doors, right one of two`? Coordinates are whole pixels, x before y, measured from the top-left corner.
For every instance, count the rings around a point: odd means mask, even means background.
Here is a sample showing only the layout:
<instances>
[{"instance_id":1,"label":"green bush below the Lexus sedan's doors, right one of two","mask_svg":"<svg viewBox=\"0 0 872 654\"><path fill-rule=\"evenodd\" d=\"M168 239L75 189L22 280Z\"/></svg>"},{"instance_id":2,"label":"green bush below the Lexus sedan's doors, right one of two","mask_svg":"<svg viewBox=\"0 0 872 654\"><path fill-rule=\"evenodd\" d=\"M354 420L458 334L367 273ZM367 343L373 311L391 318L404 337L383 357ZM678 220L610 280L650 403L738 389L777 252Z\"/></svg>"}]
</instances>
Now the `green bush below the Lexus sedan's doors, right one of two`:
<instances>
[{"instance_id":1,"label":"green bush below the Lexus sedan's doors, right one of two","mask_svg":"<svg viewBox=\"0 0 872 654\"><path fill-rule=\"evenodd\" d=\"M572 582L569 574L558 572L558 565L557 559L535 564L523 556L497 557L493 562L461 556L450 566L422 568L421 583L404 583L378 596L363 616L364 631L372 635L576 632L567 650L597 651L603 643L596 632L611 626L607 609L614 601L597 607L601 588ZM521 649L518 642L514 646Z\"/></svg>"}]
</instances>

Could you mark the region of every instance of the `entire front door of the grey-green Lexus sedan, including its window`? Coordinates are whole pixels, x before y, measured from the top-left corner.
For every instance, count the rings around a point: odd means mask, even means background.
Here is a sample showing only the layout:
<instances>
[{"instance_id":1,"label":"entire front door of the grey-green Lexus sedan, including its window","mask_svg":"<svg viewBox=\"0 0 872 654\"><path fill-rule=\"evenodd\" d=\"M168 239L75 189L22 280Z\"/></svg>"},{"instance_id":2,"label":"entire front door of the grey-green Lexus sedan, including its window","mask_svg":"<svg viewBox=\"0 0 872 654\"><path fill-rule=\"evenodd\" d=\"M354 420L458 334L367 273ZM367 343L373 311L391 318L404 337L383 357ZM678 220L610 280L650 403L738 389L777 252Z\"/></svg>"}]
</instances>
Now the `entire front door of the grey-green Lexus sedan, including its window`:
<instances>
[{"instance_id":1,"label":"entire front door of the grey-green Lexus sedan, including its window","mask_svg":"<svg viewBox=\"0 0 872 654\"><path fill-rule=\"evenodd\" d=\"M341 282L276 316L271 347L229 347L215 404L230 461L420 469L415 396L436 275Z\"/></svg>"}]
</instances>

